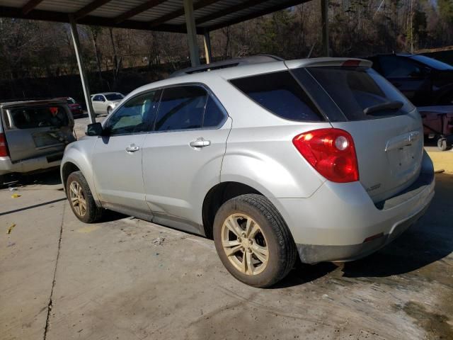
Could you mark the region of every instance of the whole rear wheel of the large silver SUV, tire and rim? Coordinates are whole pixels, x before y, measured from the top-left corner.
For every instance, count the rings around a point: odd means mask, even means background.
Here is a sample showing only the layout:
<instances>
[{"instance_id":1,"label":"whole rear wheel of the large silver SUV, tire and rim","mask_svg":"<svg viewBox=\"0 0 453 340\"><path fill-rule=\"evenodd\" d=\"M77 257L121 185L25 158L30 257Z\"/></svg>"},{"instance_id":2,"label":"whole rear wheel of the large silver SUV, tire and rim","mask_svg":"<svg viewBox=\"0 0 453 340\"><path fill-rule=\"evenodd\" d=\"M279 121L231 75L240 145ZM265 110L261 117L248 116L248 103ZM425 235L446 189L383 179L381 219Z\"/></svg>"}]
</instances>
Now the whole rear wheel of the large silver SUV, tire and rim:
<instances>
[{"instance_id":1,"label":"whole rear wheel of the large silver SUV, tire and rim","mask_svg":"<svg viewBox=\"0 0 453 340\"><path fill-rule=\"evenodd\" d=\"M263 196L246 194L226 201L217 211L213 233L225 268L247 285L268 288L294 266L297 249L292 235L277 208Z\"/></svg>"}]
</instances>

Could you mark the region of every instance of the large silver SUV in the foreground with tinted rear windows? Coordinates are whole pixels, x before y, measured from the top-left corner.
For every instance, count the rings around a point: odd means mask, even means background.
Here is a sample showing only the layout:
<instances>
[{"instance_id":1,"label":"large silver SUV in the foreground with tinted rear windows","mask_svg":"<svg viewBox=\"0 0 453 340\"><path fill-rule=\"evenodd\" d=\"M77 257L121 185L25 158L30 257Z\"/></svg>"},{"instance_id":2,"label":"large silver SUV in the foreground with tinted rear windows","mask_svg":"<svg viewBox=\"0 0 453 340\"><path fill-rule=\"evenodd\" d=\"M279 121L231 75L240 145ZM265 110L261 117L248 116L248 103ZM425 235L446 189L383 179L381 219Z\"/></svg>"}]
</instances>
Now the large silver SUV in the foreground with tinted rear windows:
<instances>
[{"instance_id":1,"label":"large silver SUV in the foreground with tinted rear windows","mask_svg":"<svg viewBox=\"0 0 453 340\"><path fill-rule=\"evenodd\" d=\"M212 237L248 285L371 254L434 195L415 107L366 60L210 66L143 86L69 145L84 222L103 209ZM190 74L191 73L191 74Z\"/></svg>"}]
</instances>

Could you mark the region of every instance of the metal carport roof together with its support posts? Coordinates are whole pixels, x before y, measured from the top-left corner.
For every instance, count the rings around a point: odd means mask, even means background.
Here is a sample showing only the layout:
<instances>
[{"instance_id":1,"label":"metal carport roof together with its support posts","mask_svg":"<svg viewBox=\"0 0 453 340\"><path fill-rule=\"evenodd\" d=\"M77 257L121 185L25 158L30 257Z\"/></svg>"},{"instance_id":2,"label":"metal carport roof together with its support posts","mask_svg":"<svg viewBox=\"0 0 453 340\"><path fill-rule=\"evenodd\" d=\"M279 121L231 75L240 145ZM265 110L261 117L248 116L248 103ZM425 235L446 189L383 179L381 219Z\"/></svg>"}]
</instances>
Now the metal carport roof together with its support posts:
<instances>
[{"instance_id":1,"label":"metal carport roof together with its support posts","mask_svg":"<svg viewBox=\"0 0 453 340\"><path fill-rule=\"evenodd\" d=\"M200 64L197 33L211 59L210 31L280 11L310 0L0 0L0 17L71 24L82 88L92 123L96 121L82 60L77 23L113 28L187 33L190 60ZM328 55L328 0L321 1L323 46Z\"/></svg>"}]
</instances>

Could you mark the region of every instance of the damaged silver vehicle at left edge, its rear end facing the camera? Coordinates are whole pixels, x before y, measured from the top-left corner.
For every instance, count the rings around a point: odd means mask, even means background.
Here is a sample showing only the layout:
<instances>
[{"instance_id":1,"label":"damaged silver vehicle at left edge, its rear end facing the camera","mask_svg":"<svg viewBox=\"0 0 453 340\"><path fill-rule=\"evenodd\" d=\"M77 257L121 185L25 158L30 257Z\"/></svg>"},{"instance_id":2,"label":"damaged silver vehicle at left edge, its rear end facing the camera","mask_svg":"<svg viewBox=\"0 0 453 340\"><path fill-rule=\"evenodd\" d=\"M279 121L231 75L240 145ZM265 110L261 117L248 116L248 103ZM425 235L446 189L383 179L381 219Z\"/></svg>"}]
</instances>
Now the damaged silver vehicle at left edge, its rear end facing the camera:
<instances>
[{"instance_id":1,"label":"damaged silver vehicle at left edge, its rear end facing the camera","mask_svg":"<svg viewBox=\"0 0 453 340\"><path fill-rule=\"evenodd\" d=\"M59 166L73 128L66 101L0 103L0 186L9 174Z\"/></svg>"}]
</instances>

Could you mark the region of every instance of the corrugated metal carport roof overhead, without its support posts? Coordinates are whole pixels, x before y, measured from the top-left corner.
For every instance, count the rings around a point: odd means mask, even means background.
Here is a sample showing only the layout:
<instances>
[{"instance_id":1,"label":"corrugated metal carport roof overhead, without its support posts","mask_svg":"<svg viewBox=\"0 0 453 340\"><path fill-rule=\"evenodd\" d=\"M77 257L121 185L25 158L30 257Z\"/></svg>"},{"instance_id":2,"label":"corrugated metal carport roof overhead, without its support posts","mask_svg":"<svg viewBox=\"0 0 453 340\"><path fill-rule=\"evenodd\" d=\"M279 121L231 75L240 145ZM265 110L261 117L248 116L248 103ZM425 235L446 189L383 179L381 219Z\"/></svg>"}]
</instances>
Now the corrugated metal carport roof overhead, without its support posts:
<instances>
[{"instance_id":1,"label":"corrugated metal carport roof overhead, without its support posts","mask_svg":"<svg viewBox=\"0 0 453 340\"><path fill-rule=\"evenodd\" d=\"M198 0L198 34L279 11L309 0ZM185 33L183 0L0 0L0 17Z\"/></svg>"}]
</instances>

